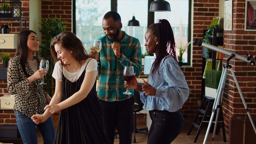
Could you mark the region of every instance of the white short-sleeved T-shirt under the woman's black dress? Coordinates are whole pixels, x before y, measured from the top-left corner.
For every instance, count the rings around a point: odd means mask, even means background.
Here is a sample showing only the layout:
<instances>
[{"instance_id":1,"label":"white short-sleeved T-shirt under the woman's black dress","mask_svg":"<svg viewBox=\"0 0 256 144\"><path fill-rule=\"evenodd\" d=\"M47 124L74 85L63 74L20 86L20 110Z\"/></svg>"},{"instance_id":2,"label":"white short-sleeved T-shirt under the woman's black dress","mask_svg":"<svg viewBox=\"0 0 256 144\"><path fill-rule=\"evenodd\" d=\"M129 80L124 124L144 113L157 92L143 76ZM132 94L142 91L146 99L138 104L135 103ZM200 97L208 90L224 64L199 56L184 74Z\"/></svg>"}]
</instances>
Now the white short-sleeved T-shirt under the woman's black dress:
<instances>
[{"instance_id":1,"label":"white short-sleeved T-shirt under the woman's black dress","mask_svg":"<svg viewBox=\"0 0 256 144\"><path fill-rule=\"evenodd\" d=\"M81 76L81 74L84 72L86 68L86 72L92 72L97 71L98 63L95 59L88 58L84 65L82 65L81 69L77 72L68 72L65 67L63 67L63 74L66 79L68 79L71 82L77 81L77 79ZM90 61L89 61L90 60ZM88 63L88 65L87 65ZM87 65L87 67L86 67ZM61 67L61 61L58 61L55 63L54 70L52 72L52 77L56 79L57 81L62 81L62 67Z\"/></svg>"}]
</instances>

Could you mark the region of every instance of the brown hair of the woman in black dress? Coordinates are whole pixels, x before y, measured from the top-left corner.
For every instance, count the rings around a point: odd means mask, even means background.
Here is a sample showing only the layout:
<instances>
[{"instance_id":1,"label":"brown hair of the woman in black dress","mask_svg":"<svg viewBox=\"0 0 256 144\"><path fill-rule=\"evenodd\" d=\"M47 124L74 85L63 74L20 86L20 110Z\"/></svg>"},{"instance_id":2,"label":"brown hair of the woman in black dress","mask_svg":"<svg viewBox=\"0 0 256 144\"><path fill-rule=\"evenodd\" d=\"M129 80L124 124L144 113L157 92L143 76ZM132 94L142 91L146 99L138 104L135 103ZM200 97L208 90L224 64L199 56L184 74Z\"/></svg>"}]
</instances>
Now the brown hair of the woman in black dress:
<instances>
[{"instance_id":1,"label":"brown hair of the woman in black dress","mask_svg":"<svg viewBox=\"0 0 256 144\"><path fill-rule=\"evenodd\" d=\"M72 32L64 31L51 40L51 56L55 61L58 61L59 59L54 49L55 44L61 44L65 49L72 51L72 55L79 62L90 57L86 53L81 40ZM65 66L63 63L62 65Z\"/></svg>"}]
</instances>

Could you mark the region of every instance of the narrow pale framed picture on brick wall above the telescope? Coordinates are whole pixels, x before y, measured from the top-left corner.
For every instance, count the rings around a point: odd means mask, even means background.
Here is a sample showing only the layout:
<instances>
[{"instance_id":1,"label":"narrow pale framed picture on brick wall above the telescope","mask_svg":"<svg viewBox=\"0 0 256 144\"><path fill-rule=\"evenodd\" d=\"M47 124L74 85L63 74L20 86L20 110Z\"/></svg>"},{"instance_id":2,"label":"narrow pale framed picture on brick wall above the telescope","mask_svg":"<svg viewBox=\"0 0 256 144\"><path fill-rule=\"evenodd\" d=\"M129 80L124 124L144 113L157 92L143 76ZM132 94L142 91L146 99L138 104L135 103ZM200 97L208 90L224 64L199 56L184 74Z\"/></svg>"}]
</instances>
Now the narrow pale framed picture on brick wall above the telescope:
<instances>
[{"instance_id":1,"label":"narrow pale framed picture on brick wall above the telescope","mask_svg":"<svg viewBox=\"0 0 256 144\"><path fill-rule=\"evenodd\" d=\"M232 0L224 1L224 30L232 30Z\"/></svg>"}]
</instances>

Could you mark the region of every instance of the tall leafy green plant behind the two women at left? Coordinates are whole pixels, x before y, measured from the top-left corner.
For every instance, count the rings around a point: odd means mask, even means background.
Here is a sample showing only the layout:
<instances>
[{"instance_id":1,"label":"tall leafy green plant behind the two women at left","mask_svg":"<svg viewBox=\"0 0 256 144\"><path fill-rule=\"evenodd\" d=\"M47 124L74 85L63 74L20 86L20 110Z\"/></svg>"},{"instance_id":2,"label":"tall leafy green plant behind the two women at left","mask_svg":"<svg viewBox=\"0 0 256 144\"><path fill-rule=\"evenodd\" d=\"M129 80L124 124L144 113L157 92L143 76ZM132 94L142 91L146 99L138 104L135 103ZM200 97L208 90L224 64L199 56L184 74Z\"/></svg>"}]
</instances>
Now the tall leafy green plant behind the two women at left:
<instances>
[{"instance_id":1,"label":"tall leafy green plant behind the two women at left","mask_svg":"<svg viewBox=\"0 0 256 144\"><path fill-rule=\"evenodd\" d=\"M65 31L66 21L62 21L61 18L47 18L41 19L41 28L39 28L40 33L42 33L42 42L40 44L39 54L42 58L49 60L49 70L47 76L44 77L44 81L47 83L45 85L46 91L49 95L54 94L54 79L51 77L53 68L54 68L54 60L51 57L50 44L51 39L58 35L59 33ZM51 93L50 93L51 92Z\"/></svg>"}]
</instances>

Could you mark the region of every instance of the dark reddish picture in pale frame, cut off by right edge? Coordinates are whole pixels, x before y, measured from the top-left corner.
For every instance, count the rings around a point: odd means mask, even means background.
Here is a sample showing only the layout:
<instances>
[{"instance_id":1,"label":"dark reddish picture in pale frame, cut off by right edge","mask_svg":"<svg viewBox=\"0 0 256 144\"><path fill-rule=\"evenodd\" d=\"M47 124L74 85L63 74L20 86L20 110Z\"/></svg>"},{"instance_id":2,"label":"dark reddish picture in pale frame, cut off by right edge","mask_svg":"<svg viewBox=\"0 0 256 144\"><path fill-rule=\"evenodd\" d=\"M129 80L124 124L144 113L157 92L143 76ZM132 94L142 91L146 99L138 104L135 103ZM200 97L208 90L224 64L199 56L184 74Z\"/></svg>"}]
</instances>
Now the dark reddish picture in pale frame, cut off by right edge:
<instances>
[{"instance_id":1,"label":"dark reddish picture in pale frame, cut off by right edge","mask_svg":"<svg viewBox=\"0 0 256 144\"><path fill-rule=\"evenodd\" d=\"M256 31L256 0L245 1L244 31Z\"/></svg>"}]
</instances>

